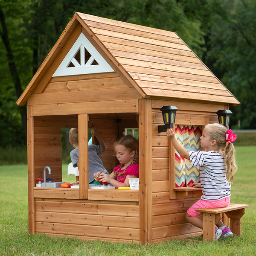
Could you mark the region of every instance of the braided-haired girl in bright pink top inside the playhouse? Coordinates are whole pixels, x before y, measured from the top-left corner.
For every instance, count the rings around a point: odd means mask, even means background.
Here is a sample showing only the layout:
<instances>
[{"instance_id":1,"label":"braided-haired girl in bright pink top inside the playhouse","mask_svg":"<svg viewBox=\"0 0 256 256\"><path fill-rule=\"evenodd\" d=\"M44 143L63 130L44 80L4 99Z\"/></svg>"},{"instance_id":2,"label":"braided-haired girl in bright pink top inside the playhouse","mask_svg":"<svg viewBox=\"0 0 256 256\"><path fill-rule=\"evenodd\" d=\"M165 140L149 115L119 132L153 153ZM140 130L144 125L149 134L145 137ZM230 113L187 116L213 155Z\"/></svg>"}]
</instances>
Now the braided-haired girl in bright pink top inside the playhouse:
<instances>
[{"instance_id":1,"label":"braided-haired girl in bright pink top inside the playhouse","mask_svg":"<svg viewBox=\"0 0 256 256\"><path fill-rule=\"evenodd\" d=\"M94 173L94 177L98 177L99 181L111 183L116 188L129 187L131 178L139 177L139 164L137 150L139 148L138 141L131 135L121 137L113 144L114 152L120 165L116 166L110 175L99 172Z\"/></svg>"}]
</instances>

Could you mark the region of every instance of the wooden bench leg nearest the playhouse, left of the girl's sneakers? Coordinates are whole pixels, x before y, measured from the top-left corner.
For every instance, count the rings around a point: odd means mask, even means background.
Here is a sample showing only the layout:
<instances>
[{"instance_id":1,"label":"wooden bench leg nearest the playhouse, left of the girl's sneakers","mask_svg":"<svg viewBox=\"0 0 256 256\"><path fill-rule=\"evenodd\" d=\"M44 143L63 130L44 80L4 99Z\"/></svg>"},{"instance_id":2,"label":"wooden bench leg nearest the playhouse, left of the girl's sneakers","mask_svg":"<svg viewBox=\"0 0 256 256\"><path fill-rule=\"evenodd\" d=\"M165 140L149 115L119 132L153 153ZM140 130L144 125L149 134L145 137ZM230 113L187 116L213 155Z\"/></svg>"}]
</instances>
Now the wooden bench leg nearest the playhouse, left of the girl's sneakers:
<instances>
[{"instance_id":1,"label":"wooden bench leg nearest the playhouse, left of the girl's sneakers","mask_svg":"<svg viewBox=\"0 0 256 256\"><path fill-rule=\"evenodd\" d=\"M203 219L203 241L215 241L215 222L220 219L220 214L204 212Z\"/></svg>"}]
</instances>

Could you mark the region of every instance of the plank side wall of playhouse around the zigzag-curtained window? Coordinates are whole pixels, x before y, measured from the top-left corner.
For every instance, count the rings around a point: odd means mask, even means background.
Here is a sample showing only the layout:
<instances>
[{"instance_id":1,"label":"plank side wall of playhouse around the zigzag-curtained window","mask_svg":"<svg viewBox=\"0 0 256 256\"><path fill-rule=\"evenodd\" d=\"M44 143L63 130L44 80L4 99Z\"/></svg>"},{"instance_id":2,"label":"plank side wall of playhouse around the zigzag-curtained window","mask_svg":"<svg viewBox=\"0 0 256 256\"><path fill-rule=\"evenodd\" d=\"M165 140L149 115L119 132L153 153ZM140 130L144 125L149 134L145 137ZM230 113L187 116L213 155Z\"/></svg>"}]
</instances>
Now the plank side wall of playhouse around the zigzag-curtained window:
<instances>
[{"instance_id":1,"label":"plank side wall of playhouse around the zigzag-curtained window","mask_svg":"<svg viewBox=\"0 0 256 256\"><path fill-rule=\"evenodd\" d=\"M226 108L220 104L152 100L153 242L201 232L185 220L187 209L200 199L200 193L189 192L183 200L170 200L169 197L169 139L166 133L158 133L158 125L163 125L160 108L165 105L175 105L179 109L175 123L185 125L205 125L206 120L218 122L215 113Z\"/></svg>"}]
</instances>

